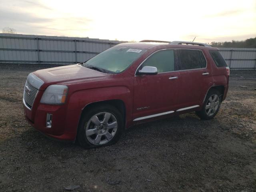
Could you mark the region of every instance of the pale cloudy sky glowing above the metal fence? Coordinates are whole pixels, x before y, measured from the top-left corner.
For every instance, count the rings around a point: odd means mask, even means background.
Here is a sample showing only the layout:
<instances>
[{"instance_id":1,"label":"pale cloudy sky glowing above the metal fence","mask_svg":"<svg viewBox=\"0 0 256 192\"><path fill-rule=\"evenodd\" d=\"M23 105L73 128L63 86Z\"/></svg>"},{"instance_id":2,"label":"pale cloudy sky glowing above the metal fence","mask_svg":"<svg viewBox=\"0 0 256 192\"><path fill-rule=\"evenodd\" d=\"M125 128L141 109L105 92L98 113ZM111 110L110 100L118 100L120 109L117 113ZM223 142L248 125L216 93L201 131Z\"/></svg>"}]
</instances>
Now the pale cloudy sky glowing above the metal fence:
<instances>
[{"instance_id":1,"label":"pale cloudy sky glowing above the metal fence","mask_svg":"<svg viewBox=\"0 0 256 192\"><path fill-rule=\"evenodd\" d=\"M256 0L0 0L4 27L128 41L245 40L256 36Z\"/></svg>"}]
</instances>

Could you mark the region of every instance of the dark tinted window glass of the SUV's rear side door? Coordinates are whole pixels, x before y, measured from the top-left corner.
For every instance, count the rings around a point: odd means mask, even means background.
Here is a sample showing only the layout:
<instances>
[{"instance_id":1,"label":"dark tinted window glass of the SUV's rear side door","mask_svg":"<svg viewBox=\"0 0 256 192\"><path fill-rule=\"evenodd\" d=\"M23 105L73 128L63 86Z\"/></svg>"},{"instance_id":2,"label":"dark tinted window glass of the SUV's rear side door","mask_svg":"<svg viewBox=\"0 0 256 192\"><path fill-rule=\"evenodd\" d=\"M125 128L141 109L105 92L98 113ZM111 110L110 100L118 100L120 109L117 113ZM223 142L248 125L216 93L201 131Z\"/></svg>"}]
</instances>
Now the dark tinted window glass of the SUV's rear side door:
<instances>
[{"instance_id":1,"label":"dark tinted window glass of the SUV's rear side door","mask_svg":"<svg viewBox=\"0 0 256 192\"><path fill-rule=\"evenodd\" d=\"M199 50L180 50L181 70L201 68L201 56Z\"/></svg>"}]
</instances>

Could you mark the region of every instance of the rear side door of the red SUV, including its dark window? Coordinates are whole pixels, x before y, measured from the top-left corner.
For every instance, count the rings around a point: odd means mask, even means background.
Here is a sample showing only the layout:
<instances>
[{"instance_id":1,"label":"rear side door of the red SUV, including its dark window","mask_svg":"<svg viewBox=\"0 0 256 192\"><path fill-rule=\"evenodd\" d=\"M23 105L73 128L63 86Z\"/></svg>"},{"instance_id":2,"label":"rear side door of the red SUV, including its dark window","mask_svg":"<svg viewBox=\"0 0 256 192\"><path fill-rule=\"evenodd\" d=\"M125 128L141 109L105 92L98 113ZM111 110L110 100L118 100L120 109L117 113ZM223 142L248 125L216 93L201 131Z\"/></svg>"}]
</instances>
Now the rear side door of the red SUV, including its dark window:
<instances>
[{"instance_id":1,"label":"rear side door of the red SUV, including its dark window","mask_svg":"<svg viewBox=\"0 0 256 192\"><path fill-rule=\"evenodd\" d=\"M179 49L180 60L180 95L182 108L195 107L200 104L208 87L206 59L202 50Z\"/></svg>"}]
</instances>

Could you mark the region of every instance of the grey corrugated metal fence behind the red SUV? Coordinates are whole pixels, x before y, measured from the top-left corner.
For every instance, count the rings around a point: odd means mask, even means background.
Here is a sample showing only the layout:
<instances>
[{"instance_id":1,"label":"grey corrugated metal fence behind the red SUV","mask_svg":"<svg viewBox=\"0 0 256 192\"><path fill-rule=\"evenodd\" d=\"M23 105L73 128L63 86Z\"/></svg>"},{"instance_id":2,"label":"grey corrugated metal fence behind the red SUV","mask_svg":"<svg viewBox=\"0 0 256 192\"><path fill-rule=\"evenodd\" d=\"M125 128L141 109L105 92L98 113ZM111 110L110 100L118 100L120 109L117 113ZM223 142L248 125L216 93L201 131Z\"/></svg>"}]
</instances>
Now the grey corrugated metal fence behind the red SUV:
<instances>
[{"instance_id":1,"label":"grey corrugated metal fence behind the red SUV","mask_svg":"<svg viewBox=\"0 0 256 192\"><path fill-rule=\"evenodd\" d=\"M122 43L116 40L0 34L0 64L75 64ZM231 69L256 69L256 48L219 48Z\"/></svg>"}]
</instances>

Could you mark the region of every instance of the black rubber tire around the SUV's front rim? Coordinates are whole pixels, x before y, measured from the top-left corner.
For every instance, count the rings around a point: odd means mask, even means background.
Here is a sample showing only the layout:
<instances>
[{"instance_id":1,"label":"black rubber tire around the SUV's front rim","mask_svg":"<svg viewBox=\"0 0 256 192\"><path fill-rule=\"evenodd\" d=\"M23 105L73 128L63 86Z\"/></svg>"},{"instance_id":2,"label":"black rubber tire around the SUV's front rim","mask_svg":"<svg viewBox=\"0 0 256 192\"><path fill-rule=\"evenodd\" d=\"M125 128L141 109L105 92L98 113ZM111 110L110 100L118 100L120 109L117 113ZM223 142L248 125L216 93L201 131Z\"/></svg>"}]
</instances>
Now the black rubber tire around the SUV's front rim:
<instances>
[{"instance_id":1,"label":"black rubber tire around the SUV's front rim","mask_svg":"<svg viewBox=\"0 0 256 192\"><path fill-rule=\"evenodd\" d=\"M120 139L122 132L124 130L124 118L123 118L122 114L120 113L120 111L118 109L116 109L114 106L107 105L107 104L104 104L102 106L90 107L87 110L88 111L86 111L84 114L82 114L82 117L81 117L81 120L80 120L80 123L78 126L77 139L78 139L79 144L85 149L115 144ZM101 113L103 113L103 112L110 113L114 116L114 117L111 116L110 118L115 118L115 120L117 121L117 130L114 130L114 129L112 130L111 134L113 134L113 131L116 131L116 132L115 132L114 136L111 138L111 140L109 140L107 143L92 144L93 139L90 136L86 135L86 126L90 126L89 124L93 123L93 121L91 120L92 117L94 117L96 114L101 115ZM102 114L102 116L104 116L104 113ZM98 116L97 116L97 118L98 118ZM98 119L100 119L100 118L98 118ZM93 126L93 124L92 124L92 126ZM95 125L94 125L93 129L94 128L95 128ZM102 130L102 129L100 129L100 130ZM90 130L92 130L92 129L90 129ZM106 130L106 131L108 131L108 130ZM95 137L97 137L98 132L95 133L95 135L96 135ZM94 135L92 135L92 137L93 136ZM105 135L104 136L102 135L101 139L102 139L102 137L105 138L105 141L107 140L107 137ZM96 140L96 138L95 138L95 140ZM100 140L100 142L102 142L102 140Z\"/></svg>"}]
</instances>

